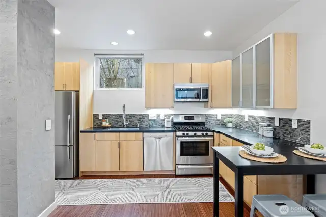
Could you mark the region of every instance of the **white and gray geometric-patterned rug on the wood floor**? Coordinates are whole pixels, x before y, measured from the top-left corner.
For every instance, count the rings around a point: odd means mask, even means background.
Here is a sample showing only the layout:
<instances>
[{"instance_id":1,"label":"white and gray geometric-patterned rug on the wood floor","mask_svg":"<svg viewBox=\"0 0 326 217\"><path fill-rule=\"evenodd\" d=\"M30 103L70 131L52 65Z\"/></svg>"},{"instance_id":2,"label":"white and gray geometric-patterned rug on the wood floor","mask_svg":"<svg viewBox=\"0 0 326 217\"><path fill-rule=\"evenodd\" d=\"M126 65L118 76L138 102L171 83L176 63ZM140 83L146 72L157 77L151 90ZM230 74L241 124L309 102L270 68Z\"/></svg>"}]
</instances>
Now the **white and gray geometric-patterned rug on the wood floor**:
<instances>
[{"instance_id":1,"label":"white and gray geometric-patterned rug on the wood floor","mask_svg":"<svg viewBox=\"0 0 326 217\"><path fill-rule=\"evenodd\" d=\"M58 205L213 201L213 178L56 180ZM234 202L220 182L220 202Z\"/></svg>"}]
</instances>

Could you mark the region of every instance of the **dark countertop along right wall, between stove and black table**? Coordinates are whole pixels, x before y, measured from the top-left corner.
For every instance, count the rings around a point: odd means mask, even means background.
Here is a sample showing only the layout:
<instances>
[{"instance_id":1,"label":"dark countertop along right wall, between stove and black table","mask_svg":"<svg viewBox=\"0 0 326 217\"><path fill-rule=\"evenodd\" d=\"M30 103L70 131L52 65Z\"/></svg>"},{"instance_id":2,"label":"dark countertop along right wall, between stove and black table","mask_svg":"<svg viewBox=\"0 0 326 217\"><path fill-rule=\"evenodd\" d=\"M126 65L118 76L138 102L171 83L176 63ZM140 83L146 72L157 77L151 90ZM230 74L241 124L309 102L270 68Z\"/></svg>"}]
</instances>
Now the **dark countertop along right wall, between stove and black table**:
<instances>
[{"instance_id":1,"label":"dark countertop along right wall, between stove and black table","mask_svg":"<svg viewBox=\"0 0 326 217\"><path fill-rule=\"evenodd\" d=\"M240 128L228 128L228 127L209 127L214 132L221 133L246 145L255 145L255 143L263 143L266 146L278 146L278 145L291 145L291 146L303 146L303 144L283 140L275 137L263 137L258 132L253 132Z\"/></svg>"}]
</instances>

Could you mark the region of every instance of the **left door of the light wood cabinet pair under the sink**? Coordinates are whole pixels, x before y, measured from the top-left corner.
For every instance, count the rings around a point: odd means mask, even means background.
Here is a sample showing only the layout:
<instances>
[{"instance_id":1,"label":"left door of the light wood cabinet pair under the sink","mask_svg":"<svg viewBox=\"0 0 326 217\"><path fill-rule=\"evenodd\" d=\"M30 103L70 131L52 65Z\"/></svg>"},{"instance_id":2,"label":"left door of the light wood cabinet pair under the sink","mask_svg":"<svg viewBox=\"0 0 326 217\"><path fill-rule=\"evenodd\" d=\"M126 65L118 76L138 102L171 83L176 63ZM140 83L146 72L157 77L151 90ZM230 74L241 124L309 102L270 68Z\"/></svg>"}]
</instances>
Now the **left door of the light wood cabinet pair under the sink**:
<instances>
[{"instance_id":1,"label":"left door of the light wood cabinet pair under the sink","mask_svg":"<svg viewBox=\"0 0 326 217\"><path fill-rule=\"evenodd\" d=\"M119 151L119 141L97 141L96 171L119 171Z\"/></svg>"}]
</instances>

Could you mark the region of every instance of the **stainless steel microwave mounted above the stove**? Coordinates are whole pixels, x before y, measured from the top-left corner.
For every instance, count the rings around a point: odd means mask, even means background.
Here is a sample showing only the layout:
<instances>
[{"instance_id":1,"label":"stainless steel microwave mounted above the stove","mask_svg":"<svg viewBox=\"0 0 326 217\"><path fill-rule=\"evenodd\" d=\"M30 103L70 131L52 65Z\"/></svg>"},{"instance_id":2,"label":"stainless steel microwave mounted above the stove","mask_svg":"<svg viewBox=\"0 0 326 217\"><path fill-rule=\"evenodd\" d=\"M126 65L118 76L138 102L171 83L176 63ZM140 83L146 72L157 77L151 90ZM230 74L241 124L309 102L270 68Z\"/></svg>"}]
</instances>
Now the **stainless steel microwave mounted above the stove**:
<instances>
[{"instance_id":1,"label":"stainless steel microwave mounted above the stove","mask_svg":"<svg viewBox=\"0 0 326 217\"><path fill-rule=\"evenodd\" d=\"M209 84L175 83L175 102L208 102Z\"/></svg>"}]
</instances>

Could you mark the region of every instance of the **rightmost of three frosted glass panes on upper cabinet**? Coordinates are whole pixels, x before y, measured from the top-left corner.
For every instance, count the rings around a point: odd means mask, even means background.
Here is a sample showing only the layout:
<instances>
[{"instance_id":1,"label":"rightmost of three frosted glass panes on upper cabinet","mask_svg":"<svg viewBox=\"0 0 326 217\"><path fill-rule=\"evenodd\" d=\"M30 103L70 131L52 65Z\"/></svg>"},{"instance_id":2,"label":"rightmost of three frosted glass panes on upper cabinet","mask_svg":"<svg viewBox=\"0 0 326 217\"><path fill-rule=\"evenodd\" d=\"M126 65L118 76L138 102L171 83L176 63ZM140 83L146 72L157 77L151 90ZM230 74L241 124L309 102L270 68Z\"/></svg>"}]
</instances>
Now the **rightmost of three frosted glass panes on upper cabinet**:
<instances>
[{"instance_id":1,"label":"rightmost of three frosted glass panes on upper cabinet","mask_svg":"<svg viewBox=\"0 0 326 217\"><path fill-rule=\"evenodd\" d=\"M271 106L270 40L269 37L256 45L256 107Z\"/></svg>"}]
</instances>

